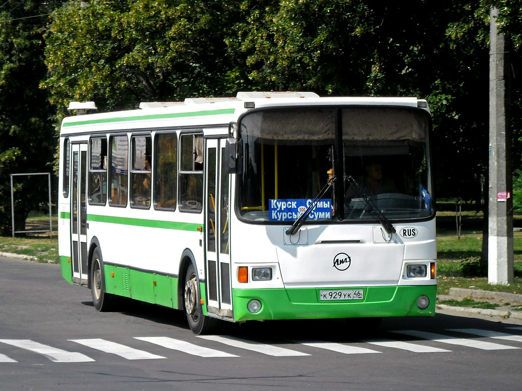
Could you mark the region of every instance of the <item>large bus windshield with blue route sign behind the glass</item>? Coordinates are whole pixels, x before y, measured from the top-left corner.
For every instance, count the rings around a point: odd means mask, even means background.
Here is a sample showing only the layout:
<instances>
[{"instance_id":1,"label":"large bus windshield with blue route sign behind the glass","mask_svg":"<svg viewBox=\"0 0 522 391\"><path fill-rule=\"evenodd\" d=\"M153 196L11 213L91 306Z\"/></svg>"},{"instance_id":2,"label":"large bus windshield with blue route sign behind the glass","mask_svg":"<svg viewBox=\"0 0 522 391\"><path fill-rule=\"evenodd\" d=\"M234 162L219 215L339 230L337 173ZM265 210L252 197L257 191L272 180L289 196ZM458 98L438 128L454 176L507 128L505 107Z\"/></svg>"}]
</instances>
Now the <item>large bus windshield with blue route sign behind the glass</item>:
<instances>
[{"instance_id":1,"label":"large bus windshield with blue route sign behind the glass","mask_svg":"<svg viewBox=\"0 0 522 391\"><path fill-rule=\"evenodd\" d=\"M319 194L314 223L430 217L429 114L406 107L301 106L239 123L238 215L293 222ZM377 220L379 220L377 218Z\"/></svg>"}]
</instances>

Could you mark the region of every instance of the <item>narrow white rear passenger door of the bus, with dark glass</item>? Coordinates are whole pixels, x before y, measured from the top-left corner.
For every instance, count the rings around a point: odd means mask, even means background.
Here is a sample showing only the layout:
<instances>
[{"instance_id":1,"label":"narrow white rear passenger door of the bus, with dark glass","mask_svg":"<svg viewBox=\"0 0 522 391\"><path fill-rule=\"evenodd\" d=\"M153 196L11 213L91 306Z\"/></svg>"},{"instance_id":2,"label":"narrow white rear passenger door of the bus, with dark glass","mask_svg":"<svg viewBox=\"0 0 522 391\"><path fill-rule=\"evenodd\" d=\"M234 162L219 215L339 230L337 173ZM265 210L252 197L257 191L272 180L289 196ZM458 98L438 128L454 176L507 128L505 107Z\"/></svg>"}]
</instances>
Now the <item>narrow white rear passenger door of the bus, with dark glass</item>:
<instances>
[{"instance_id":1,"label":"narrow white rear passenger door of the bus, with dark glass","mask_svg":"<svg viewBox=\"0 0 522 391\"><path fill-rule=\"evenodd\" d=\"M87 285L87 144L73 144L70 234L73 243L73 282Z\"/></svg>"}]
</instances>

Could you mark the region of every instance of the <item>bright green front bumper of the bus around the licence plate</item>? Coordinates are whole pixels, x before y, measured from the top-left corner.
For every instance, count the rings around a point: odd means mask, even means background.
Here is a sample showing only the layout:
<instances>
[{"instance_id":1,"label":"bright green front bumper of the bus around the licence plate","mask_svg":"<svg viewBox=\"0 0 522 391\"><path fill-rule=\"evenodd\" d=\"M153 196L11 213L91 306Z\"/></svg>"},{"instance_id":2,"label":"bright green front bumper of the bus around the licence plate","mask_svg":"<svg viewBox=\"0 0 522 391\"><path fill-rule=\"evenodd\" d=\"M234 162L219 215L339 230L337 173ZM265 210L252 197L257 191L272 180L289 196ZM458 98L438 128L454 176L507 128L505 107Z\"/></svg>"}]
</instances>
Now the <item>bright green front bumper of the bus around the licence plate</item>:
<instances>
[{"instance_id":1,"label":"bright green front bumper of the bus around the licence plate","mask_svg":"<svg viewBox=\"0 0 522 391\"><path fill-rule=\"evenodd\" d=\"M364 300L320 301L318 288L232 289L234 320L435 316L436 285L340 289L363 289ZM417 307L422 294L430 299L424 310ZM246 307L252 299L261 302L255 314Z\"/></svg>"}]
</instances>

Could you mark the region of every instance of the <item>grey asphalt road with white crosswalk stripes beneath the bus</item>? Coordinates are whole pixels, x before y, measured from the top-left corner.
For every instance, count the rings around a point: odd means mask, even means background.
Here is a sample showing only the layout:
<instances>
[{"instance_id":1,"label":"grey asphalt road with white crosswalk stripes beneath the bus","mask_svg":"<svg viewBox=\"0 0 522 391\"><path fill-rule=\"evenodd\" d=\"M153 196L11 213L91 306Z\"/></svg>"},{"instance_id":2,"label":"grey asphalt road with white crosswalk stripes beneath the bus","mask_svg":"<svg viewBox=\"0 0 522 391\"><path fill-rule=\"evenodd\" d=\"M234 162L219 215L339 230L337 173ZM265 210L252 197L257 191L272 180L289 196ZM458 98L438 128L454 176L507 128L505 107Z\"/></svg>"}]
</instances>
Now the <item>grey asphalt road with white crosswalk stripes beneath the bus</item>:
<instances>
[{"instance_id":1,"label":"grey asphalt road with white crosswalk stripes beneath the bus","mask_svg":"<svg viewBox=\"0 0 522 391\"><path fill-rule=\"evenodd\" d=\"M188 342L188 343L187 343ZM516 390L522 326L437 314L229 324L196 337L180 312L98 313L57 265L0 258L0 390Z\"/></svg>"}]
</instances>

